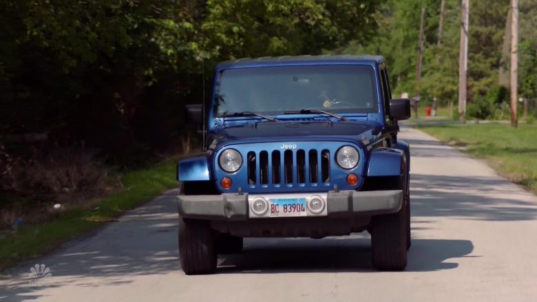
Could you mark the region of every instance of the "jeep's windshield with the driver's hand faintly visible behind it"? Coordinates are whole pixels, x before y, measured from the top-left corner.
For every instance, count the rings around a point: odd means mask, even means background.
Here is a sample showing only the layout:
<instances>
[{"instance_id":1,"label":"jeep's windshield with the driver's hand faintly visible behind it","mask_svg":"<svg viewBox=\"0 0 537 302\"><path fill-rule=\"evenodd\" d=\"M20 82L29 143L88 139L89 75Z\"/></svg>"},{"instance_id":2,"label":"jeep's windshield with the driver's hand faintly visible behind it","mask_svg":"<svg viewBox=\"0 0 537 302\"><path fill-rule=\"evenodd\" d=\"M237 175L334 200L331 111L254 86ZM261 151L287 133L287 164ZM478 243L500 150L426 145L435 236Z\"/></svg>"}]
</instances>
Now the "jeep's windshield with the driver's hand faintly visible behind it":
<instances>
[{"instance_id":1,"label":"jeep's windshield with the driver's hand faintly visible behind it","mask_svg":"<svg viewBox=\"0 0 537 302\"><path fill-rule=\"evenodd\" d=\"M375 113L375 71L363 65L301 65L225 69L218 74L217 116L301 109Z\"/></svg>"}]
</instances>

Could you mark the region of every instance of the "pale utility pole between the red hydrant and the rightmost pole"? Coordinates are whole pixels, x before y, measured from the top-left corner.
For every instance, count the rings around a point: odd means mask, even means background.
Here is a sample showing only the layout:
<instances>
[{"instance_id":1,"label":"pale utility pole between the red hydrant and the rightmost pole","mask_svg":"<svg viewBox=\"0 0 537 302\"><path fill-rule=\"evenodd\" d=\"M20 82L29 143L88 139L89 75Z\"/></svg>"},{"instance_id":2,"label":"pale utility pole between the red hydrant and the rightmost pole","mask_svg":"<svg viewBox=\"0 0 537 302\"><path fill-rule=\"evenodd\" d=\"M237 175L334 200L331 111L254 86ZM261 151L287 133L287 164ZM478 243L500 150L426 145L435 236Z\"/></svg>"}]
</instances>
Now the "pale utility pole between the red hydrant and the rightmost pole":
<instances>
[{"instance_id":1,"label":"pale utility pole between the red hydrant and the rightmost pole","mask_svg":"<svg viewBox=\"0 0 537 302\"><path fill-rule=\"evenodd\" d=\"M461 9L461 48L459 54L459 120L465 120L468 70L468 14L470 0L463 0Z\"/></svg>"}]
</instances>

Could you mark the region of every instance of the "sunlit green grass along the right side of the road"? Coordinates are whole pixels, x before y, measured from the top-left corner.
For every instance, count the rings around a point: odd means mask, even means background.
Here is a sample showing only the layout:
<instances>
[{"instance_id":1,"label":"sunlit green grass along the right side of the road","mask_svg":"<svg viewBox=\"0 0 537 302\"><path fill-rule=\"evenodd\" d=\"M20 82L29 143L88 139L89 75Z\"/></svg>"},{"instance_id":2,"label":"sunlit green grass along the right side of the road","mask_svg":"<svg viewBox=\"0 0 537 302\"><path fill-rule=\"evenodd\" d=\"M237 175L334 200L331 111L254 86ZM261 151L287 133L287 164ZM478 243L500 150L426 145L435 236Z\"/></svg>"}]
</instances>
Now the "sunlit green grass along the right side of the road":
<instances>
[{"instance_id":1,"label":"sunlit green grass along the right side of the road","mask_svg":"<svg viewBox=\"0 0 537 302\"><path fill-rule=\"evenodd\" d=\"M509 180L537 193L537 125L423 126L418 129L483 158Z\"/></svg>"}]
</instances>

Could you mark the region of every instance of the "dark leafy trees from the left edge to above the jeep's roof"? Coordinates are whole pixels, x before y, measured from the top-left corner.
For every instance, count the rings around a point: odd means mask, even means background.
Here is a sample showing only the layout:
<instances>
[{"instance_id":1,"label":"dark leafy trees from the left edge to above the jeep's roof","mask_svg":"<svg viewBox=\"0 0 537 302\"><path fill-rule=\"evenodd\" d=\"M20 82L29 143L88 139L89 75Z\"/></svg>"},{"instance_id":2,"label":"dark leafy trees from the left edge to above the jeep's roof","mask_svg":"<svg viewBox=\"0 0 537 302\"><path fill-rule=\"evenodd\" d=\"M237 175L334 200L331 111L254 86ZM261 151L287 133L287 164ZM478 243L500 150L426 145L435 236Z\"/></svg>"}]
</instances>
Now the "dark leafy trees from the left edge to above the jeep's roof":
<instances>
[{"instance_id":1,"label":"dark leafy trees from the left edge to above the jeep's roof","mask_svg":"<svg viewBox=\"0 0 537 302\"><path fill-rule=\"evenodd\" d=\"M202 74L243 56L366 41L382 1L20 0L0 6L0 131L46 132L111 162L182 136ZM203 69L204 68L204 69ZM1 137L1 136L0 136Z\"/></svg>"}]
</instances>

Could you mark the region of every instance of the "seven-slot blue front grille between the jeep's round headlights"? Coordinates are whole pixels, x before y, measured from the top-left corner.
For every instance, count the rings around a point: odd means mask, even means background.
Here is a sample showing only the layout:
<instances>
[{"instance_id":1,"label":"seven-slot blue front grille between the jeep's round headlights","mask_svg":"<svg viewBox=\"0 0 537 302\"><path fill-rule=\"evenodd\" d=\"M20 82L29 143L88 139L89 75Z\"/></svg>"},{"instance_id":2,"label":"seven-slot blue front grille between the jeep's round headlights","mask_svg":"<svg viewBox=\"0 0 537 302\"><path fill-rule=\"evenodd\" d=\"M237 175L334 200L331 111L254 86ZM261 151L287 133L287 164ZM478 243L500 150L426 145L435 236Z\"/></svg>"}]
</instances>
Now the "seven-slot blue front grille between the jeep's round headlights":
<instances>
[{"instance_id":1,"label":"seven-slot blue front grille between the jeep's round headlights","mask_svg":"<svg viewBox=\"0 0 537 302\"><path fill-rule=\"evenodd\" d=\"M311 150L273 150L249 151L246 154L248 183L251 186L261 184L316 185L330 182L330 151Z\"/></svg>"}]
</instances>

